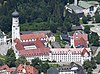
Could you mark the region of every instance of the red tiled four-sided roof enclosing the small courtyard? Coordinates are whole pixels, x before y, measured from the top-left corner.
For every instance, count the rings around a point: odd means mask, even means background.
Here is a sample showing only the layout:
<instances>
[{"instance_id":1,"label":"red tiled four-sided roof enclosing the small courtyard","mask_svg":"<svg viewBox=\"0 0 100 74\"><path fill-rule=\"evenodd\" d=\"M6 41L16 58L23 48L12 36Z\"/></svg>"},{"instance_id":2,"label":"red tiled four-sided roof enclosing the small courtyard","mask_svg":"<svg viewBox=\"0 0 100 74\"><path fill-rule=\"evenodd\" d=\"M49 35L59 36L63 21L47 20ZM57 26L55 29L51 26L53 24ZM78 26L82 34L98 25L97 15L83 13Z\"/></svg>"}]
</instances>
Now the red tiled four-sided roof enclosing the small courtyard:
<instances>
[{"instance_id":1,"label":"red tiled four-sided roof enclosing the small courtyard","mask_svg":"<svg viewBox=\"0 0 100 74\"><path fill-rule=\"evenodd\" d=\"M21 55L24 56L41 56L41 55L49 55L49 48L45 48L43 42L37 39L36 41L31 42L20 42L17 40L17 44L15 45L16 49L19 51ZM35 49L28 49L24 48L25 45L35 45L37 48Z\"/></svg>"}]
</instances>

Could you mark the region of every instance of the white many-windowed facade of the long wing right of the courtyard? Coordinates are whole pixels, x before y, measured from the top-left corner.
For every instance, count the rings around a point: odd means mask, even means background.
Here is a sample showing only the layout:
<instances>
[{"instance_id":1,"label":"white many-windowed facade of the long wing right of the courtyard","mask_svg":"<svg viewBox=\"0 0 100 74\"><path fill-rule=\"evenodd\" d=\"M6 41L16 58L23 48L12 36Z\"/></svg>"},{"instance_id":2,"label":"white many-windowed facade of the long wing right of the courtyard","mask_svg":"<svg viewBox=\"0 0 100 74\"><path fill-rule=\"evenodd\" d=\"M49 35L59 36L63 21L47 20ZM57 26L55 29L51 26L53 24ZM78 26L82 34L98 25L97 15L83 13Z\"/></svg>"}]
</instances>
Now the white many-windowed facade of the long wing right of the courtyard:
<instances>
[{"instance_id":1,"label":"white many-windowed facade of the long wing right of the courtyard","mask_svg":"<svg viewBox=\"0 0 100 74\"><path fill-rule=\"evenodd\" d=\"M80 62L83 64L84 60L90 60L91 56L85 56L83 57L81 53L78 52L56 52L52 51L51 55L51 61L56 61L56 62Z\"/></svg>"}]
</instances>

